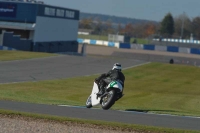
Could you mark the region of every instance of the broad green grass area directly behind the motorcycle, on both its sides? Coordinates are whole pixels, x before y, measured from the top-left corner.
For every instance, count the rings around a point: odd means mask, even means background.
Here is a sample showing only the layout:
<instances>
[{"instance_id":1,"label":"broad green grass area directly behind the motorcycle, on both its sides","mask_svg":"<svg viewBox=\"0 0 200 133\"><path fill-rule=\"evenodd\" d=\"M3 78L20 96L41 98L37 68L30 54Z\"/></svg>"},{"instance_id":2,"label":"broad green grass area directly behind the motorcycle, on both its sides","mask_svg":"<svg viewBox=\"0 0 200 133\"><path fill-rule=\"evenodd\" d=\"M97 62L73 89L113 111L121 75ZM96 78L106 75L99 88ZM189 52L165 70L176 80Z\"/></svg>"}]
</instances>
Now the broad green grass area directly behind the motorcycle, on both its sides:
<instances>
[{"instance_id":1,"label":"broad green grass area directly behind the motorcycle, on both its sides","mask_svg":"<svg viewBox=\"0 0 200 133\"><path fill-rule=\"evenodd\" d=\"M112 109L200 116L200 69L151 63L124 71L125 96ZM98 75L1 84L0 99L85 106Z\"/></svg>"}]
</instances>

